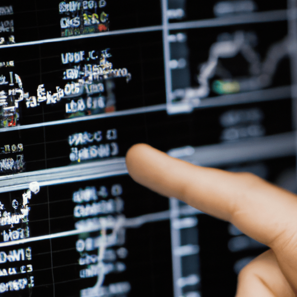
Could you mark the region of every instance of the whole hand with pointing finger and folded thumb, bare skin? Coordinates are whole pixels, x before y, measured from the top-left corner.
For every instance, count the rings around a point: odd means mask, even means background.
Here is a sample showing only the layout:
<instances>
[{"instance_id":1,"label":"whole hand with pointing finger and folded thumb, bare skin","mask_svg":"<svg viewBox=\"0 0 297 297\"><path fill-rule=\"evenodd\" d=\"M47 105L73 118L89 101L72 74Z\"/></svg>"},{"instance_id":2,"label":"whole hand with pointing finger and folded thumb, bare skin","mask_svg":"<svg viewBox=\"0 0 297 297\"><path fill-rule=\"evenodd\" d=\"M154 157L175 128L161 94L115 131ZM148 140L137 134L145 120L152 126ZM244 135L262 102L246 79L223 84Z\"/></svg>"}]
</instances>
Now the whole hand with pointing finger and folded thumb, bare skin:
<instances>
[{"instance_id":1,"label":"whole hand with pointing finger and folded thumb, bare skin","mask_svg":"<svg viewBox=\"0 0 297 297\"><path fill-rule=\"evenodd\" d=\"M231 222L270 249L244 267L236 297L297 296L297 196L251 173L206 168L146 144L126 155L130 176L166 197Z\"/></svg>"}]
</instances>

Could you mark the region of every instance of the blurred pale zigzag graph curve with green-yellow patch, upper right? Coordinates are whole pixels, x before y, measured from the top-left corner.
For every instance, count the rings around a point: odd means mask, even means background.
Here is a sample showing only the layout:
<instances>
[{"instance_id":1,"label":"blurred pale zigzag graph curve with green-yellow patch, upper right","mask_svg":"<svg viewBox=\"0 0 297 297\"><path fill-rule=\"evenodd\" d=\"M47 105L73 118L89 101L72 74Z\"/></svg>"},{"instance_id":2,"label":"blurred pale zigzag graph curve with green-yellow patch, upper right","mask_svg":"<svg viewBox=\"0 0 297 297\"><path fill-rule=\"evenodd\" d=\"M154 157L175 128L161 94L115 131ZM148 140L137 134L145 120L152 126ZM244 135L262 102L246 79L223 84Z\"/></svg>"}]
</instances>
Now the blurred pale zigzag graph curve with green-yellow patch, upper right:
<instances>
[{"instance_id":1,"label":"blurred pale zigzag graph curve with green-yellow patch, upper right","mask_svg":"<svg viewBox=\"0 0 297 297\"><path fill-rule=\"evenodd\" d=\"M289 54L290 41L288 37L271 45L266 58L261 62L260 55L254 49L254 34L236 31L233 34L226 33L224 35L230 40L217 41L211 45L208 61L202 64L200 73L197 76L200 86L186 89L183 100L205 98L209 95L211 89L215 93L222 95L266 88L271 85L279 61ZM209 81L216 73L219 59L233 58L239 53L249 64L250 77L222 78L215 80L210 86Z\"/></svg>"}]
</instances>

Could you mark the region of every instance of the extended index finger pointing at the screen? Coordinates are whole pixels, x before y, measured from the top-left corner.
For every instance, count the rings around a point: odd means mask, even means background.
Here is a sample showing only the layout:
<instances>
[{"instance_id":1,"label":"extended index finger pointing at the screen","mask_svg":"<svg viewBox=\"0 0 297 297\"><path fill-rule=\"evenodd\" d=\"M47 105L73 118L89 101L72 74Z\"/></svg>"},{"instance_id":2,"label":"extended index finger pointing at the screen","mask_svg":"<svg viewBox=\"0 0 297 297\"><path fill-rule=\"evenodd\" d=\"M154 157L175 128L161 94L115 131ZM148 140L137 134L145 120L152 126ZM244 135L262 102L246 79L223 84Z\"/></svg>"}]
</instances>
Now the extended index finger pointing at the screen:
<instances>
[{"instance_id":1,"label":"extended index finger pointing at the screen","mask_svg":"<svg viewBox=\"0 0 297 297\"><path fill-rule=\"evenodd\" d=\"M195 166L146 144L132 146L126 164L138 183L232 222L268 246L289 225L297 230L296 195L250 173Z\"/></svg>"}]
</instances>

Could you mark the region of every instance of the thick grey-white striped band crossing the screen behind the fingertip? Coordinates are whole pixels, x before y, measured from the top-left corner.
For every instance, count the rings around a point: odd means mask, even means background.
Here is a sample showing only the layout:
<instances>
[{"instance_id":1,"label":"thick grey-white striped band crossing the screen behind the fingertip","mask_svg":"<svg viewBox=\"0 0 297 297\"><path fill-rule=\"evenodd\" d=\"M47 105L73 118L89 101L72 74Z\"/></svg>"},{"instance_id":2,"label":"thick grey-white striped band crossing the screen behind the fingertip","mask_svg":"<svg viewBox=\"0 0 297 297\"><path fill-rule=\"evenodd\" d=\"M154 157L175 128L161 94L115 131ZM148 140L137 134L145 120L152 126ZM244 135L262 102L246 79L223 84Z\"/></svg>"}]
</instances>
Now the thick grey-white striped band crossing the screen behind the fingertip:
<instances>
[{"instance_id":1,"label":"thick grey-white striped band crossing the screen behind the fingertip","mask_svg":"<svg viewBox=\"0 0 297 297\"><path fill-rule=\"evenodd\" d=\"M184 155L184 149L177 148L175 157L202 166L220 166L246 160L269 159L296 155L295 132L249 138L234 142L211 144L192 148L191 155ZM28 189L31 181L40 186L85 181L109 176L127 174L124 157L94 161L84 164L68 165L58 168L23 172L1 176L0 193ZM142 219L145 219L143 217Z\"/></svg>"}]
</instances>

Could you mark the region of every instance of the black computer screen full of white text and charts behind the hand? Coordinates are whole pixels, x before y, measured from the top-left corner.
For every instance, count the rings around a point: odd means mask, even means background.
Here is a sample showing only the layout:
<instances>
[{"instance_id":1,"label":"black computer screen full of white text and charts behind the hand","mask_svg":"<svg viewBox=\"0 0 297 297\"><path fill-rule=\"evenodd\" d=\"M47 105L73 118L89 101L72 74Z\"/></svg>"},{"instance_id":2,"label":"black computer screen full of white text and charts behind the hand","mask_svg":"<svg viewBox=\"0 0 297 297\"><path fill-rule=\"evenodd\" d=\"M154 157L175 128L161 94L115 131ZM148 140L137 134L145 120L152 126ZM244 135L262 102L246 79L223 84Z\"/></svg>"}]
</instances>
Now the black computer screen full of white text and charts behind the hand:
<instances>
[{"instance_id":1,"label":"black computer screen full of white text and charts behind the hand","mask_svg":"<svg viewBox=\"0 0 297 297\"><path fill-rule=\"evenodd\" d=\"M1 1L1 295L234 296L268 247L125 154L296 192L296 48L296 0Z\"/></svg>"}]
</instances>

